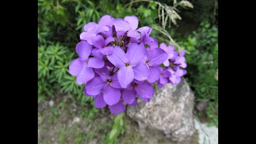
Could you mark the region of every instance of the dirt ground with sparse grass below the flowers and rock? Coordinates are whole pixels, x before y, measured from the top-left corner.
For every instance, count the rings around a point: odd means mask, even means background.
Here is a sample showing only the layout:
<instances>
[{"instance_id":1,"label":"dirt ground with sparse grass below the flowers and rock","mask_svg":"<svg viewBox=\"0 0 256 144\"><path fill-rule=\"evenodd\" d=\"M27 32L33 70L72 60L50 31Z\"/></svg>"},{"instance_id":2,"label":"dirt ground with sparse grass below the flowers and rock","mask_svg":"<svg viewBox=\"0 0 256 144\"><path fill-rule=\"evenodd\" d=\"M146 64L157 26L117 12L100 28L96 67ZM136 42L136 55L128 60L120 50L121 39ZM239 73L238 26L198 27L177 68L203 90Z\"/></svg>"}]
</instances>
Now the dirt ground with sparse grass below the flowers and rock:
<instances>
[{"instance_id":1,"label":"dirt ground with sparse grass below the flowers and rock","mask_svg":"<svg viewBox=\"0 0 256 144\"><path fill-rule=\"evenodd\" d=\"M103 143L111 130L114 115L100 109L90 113L92 107L82 106L66 94L38 103L38 143ZM125 115L126 116L126 115ZM119 135L120 143L197 144L197 134L191 140L176 143L154 133L141 134L138 123L126 116L126 131Z\"/></svg>"}]
</instances>

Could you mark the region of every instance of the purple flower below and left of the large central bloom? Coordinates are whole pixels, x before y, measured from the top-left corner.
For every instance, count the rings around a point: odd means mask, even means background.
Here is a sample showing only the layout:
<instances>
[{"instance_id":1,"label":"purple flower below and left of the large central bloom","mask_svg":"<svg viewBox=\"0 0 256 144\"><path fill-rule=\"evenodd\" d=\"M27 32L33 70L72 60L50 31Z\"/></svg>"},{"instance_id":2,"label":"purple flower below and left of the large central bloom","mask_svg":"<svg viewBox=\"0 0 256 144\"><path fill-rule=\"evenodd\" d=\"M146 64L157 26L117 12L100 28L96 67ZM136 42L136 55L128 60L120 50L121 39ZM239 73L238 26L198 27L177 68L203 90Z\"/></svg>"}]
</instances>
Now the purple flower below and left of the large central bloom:
<instances>
[{"instance_id":1,"label":"purple flower below and left of the large central bloom","mask_svg":"<svg viewBox=\"0 0 256 144\"><path fill-rule=\"evenodd\" d=\"M117 75L110 76L107 67L96 69L95 73L100 77L94 77L87 82L84 90L89 95L98 95L98 97L103 95L104 102L110 106L115 105L121 98L121 86L118 83Z\"/></svg>"}]
</instances>

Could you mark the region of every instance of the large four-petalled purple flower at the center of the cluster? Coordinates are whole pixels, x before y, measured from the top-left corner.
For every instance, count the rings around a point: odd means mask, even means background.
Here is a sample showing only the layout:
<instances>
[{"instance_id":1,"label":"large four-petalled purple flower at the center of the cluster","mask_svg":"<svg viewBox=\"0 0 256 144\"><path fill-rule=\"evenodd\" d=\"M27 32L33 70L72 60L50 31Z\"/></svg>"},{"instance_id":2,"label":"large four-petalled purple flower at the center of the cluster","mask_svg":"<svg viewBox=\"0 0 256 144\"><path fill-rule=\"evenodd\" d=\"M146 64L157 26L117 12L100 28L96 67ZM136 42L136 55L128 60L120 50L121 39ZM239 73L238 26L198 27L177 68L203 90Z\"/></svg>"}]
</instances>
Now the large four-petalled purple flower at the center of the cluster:
<instances>
[{"instance_id":1,"label":"large four-petalled purple flower at the center of the cluster","mask_svg":"<svg viewBox=\"0 0 256 144\"><path fill-rule=\"evenodd\" d=\"M145 55L145 49L136 43L131 43L125 53L121 47L116 46L113 53L107 55L107 59L119 68L117 77L120 85L127 88L133 79L146 79L148 68L140 63Z\"/></svg>"}]
</instances>

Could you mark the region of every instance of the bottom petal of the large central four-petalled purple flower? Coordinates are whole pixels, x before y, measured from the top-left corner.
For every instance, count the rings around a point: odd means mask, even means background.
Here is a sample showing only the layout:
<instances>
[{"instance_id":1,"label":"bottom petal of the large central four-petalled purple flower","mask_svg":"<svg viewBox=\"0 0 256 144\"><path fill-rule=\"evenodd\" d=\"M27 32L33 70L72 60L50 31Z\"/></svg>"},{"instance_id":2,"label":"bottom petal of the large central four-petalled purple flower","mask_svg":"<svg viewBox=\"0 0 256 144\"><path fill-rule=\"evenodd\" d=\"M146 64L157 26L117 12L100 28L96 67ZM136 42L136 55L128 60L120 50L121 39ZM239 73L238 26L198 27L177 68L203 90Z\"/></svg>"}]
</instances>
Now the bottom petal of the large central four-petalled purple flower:
<instances>
[{"instance_id":1,"label":"bottom petal of the large central four-petalled purple flower","mask_svg":"<svg viewBox=\"0 0 256 144\"><path fill-rule=\"evenodd\" d=\"M121 67L118 70L118 72L117 72L117 77L118 77L119 84L123 88L128 87L129 84L134 79L134 73L133 73L132 67L131 66L129 66L129 67L126 67L126 66Z\"/></svg>"}]
</instances>

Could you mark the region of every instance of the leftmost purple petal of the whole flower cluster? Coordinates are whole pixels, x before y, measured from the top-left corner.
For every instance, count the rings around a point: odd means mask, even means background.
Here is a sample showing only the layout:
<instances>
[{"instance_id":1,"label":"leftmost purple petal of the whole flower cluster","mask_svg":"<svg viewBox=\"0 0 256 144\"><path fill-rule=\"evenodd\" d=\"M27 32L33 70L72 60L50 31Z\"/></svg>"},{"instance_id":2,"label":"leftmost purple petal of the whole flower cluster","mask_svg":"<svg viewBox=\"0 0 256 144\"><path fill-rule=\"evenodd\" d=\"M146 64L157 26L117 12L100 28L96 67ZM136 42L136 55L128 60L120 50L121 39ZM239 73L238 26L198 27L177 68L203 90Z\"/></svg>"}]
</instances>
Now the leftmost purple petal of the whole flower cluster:
<instances>
[{"instance_id":1,"label":"leftmost purple petal of the whole flower cluster","mask_svg":"<svg viewBox=\"0 0 256 144\"><path fill-rule=\"evenodd\" d=\"M69 74L73 76L77 76L84 65L85 65L85 61L80 59L75 59L71 61L69 65Z\"/></svg>"}]
</instances>

